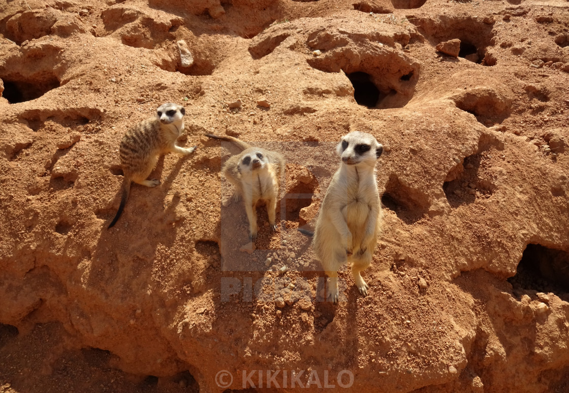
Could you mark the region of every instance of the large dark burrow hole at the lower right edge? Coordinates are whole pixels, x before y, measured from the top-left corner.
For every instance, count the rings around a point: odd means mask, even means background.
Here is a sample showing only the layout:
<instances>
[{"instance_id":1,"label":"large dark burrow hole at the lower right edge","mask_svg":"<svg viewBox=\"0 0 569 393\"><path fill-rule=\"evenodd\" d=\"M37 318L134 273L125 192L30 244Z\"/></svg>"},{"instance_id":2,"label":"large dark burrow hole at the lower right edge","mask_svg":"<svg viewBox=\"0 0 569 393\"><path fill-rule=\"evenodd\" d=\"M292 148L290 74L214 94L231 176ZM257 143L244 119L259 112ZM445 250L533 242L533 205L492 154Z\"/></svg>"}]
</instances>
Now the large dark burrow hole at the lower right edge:
<instances>
[{"instance_id":1,"label":"large dark burrow hole at the lower right edge","mask_svg":"<svg viewBox=\"0 0 569 393\"><path fill-rule=\"evenodd\" d=\"M523 251L516 275L508 279L514 289L568 293L569 253L539 244Z\"/></svg>"}]
</instances>

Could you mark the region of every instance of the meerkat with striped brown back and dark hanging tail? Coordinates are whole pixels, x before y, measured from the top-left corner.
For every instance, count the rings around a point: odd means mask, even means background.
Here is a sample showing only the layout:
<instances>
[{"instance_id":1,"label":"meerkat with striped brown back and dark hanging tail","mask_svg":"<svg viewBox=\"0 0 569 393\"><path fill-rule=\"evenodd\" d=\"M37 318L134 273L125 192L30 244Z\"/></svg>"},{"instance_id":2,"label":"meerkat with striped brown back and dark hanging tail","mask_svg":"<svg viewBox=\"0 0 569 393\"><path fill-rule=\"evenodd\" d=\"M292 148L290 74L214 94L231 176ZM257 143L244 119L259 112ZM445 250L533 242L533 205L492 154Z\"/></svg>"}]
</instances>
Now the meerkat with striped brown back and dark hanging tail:
<instances>
[{"instance_id":1,"label":"meerkat with striped brown back and dark hanging tail","mask_svg":"<svg viewBox=\"0 0 569 393\"><path fill-rule=\"evenodd\" d=\"M160 184L159 180L146 179L156 166L160 155L169 152L189 155L196 149L196 146L190 148L176 146L176 139L184 131L184 115L183 106L167 102L156 109L154 117L147 118L126 131L119 148L124 174L121 204L108 229L121 217L133 181L146 187L156 187Z\"/></svg>"}]
</instances>

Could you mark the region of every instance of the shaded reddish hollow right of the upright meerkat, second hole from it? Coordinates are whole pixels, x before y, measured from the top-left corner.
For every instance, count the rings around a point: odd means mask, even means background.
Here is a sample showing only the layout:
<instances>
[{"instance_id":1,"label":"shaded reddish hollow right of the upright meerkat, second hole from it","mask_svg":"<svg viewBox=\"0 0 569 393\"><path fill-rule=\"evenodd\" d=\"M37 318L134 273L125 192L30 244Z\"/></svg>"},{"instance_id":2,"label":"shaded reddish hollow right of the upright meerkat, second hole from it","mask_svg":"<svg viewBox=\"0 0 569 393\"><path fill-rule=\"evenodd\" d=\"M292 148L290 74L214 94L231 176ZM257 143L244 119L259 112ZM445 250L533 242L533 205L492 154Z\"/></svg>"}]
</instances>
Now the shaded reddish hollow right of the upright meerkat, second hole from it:
<instances>
[{"instance_id":1,"label":"shaded reddish hollow right of the upright meerkat, second hole from it","mask_svg":"<svg viewBox=\"0 0 569 393\"><path fill-rule=\"evenodd\" d=\"M452 208L471 204L477 196L488 198L494 193L496 185L480 179L478 173L485 153L468 156L448 172L443 183L443 191Z\"/></svg>"}]
</instances>

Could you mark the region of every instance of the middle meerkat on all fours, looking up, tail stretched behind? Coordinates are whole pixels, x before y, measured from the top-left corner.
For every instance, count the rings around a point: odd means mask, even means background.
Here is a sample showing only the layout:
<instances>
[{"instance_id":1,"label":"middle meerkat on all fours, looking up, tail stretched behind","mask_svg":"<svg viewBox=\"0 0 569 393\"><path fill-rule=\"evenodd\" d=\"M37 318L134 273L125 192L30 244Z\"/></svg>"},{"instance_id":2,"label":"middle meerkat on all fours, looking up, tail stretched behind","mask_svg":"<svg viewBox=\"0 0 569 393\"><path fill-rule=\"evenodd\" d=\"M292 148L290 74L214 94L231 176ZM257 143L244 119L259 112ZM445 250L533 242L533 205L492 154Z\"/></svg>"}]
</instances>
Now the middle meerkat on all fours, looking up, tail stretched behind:
<instances>
[{"instance_id":1,"label":"middle meerkat on all fours, looking up, tail stretched behind","mask_svg":"<svg viewBox=\"0 0 569 393\"><path fill-rule=\"evenodd\" d=\"M245 212L249 220L249 239L255 241L258 234L257 212L258 201L265 201L271 230L277 229L275 213L279 197L279 182L284 173L284 156L278 152L251 147L248 143L233 136L205 134L209 138L233 142L241 149L241 153L231 156L224 164L222 172L232 183L237 192L235 200L243 197Z\"/></svg>"}]
</instances>

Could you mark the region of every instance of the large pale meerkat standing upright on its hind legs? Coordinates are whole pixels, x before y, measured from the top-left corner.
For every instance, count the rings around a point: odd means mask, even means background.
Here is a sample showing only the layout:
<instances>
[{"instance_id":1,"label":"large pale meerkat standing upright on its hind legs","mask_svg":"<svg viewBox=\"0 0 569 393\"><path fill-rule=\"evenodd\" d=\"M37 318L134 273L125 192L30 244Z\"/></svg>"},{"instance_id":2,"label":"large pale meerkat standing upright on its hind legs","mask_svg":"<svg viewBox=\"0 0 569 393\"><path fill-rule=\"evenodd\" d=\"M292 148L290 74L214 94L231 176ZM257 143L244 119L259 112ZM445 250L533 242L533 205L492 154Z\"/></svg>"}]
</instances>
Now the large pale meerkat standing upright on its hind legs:
<instances>
[{"instance_id":1,"label":"large pale meerkat standing upright on its hind legs","mask_svg":"<svg viewBox=\"0 0 569 393\"><path fill-rule=\"evenodd\" d=\"M352 275L362 295L368 284L360 272L372 263L381 225L381 202L376 182L376 162L383 146L371 134L353 131L342 137L337 153L340 168L328 186L314 233L312 249L329 277L328 298L337 303L338 269L352 264Z\"/></svg>"}]
</instances>

